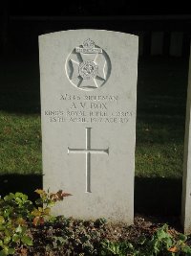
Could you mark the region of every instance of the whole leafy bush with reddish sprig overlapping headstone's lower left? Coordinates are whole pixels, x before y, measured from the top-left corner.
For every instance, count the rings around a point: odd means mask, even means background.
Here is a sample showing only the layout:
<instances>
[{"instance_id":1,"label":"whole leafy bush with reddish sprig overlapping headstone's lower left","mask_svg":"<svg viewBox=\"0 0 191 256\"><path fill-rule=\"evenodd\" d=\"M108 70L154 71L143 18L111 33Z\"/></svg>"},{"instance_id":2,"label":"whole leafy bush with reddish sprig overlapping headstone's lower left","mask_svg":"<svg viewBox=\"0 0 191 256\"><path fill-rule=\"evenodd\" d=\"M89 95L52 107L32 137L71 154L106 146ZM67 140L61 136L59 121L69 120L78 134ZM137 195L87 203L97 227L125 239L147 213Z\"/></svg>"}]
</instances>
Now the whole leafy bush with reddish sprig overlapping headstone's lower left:
<instances>
[{"instance_id":1,"label":"whole leafy bush with reddish sprig overlapping headstone's lower left","mask_svg":"<svg viewBox=\"0 0 191 256\"><path fill-rule=\"evenodd\" d=\"M43 190L36 190L36 193L40 196L36 205L45 203L45 207L36 207L27 195L19 192L0 198L0 256L14 254L15 248L21 245L31 246L31 221L37 225L49 220L51 206L70 196L61 190L55 194Z\"/></svg>"}]
</instances>

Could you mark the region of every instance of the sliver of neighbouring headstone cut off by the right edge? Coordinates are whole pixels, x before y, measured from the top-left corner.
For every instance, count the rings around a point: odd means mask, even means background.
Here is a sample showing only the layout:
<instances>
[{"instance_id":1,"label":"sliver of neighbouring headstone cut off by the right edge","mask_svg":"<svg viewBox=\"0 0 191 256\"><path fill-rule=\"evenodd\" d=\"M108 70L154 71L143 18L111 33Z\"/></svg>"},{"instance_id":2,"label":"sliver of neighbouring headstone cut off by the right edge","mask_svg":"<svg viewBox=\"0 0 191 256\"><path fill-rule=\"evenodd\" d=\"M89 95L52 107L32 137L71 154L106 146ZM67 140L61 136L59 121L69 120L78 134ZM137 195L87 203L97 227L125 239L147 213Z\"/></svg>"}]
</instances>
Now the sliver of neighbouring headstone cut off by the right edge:
<instances>
[{"instance_id":1,"label":"sliver of neighbouring headstone cut off by the right edge","mask_svg":"<svg viewBox=\"0 0 191 256\"><path fill-rule=\"evenodd\" d=\"M186 234L191 233L191 58L188 76L186 123L184 136L181 222Z\"/></svg>"}]
</instances>

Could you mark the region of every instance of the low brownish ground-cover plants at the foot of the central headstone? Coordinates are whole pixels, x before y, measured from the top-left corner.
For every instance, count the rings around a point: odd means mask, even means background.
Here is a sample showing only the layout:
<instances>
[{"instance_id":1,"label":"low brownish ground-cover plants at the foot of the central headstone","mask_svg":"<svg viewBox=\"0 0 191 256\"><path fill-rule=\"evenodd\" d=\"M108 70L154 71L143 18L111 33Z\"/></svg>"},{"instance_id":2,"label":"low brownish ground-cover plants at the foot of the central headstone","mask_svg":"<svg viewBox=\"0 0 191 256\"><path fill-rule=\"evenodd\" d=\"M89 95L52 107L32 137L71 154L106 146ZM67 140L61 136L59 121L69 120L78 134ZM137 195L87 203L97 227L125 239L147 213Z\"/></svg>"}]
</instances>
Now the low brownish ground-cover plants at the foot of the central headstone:
<instances>
[{"instance_id":1,"label":"low brownish ground-cover plants at the foot of the central headstone","mask_svg":"<svg viewBox=\"0 0 191 256\"><path fill-rule=\"evenodd\" d=\"M41 226L32 230L34 247L42 255L99 255L105 223L104 219L83 221L57 217L44 225L43 232Z\"/></svg>"}]
</instances>

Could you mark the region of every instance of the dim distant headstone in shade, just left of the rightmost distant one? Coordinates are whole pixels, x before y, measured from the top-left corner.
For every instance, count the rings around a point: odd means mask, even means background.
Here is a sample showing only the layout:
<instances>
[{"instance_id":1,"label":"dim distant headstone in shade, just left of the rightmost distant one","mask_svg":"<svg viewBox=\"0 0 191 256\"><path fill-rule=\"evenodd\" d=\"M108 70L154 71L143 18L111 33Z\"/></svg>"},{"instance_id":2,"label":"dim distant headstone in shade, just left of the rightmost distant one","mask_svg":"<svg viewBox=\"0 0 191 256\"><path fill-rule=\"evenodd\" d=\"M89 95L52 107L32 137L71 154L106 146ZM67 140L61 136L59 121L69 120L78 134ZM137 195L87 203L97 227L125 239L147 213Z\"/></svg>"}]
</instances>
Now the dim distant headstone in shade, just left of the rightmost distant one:
<instances>
[{"instance_id":1,"label":"dim distant headstone in shade, just left of the rightmost distant one","mask_svg":"<svg viewBox=\"0 0 191 256\"><path fill-rule=\"evenodd\" d=\"M159 56L163 53L163 32L153 32L151 37L151 55Z\"/></svg>"}]
</instances>

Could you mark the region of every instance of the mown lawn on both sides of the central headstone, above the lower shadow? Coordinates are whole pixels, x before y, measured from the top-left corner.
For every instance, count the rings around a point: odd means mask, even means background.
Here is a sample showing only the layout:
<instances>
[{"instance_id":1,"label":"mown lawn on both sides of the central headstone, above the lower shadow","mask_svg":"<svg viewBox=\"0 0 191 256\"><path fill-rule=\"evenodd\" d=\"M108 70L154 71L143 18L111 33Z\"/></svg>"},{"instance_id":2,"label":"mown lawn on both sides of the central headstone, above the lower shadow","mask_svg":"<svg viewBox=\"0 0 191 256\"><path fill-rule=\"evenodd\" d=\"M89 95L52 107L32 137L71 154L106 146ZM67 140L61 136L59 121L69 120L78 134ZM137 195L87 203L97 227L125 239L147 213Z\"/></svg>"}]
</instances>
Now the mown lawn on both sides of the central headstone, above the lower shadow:
<instances>
[{"instance_id":1,"label":"mown lawn on both sides of the central headstone, above the lower shadow","mask_svg":"<svg viewBox=\"0 0 191 256\"><path fill-rule=\"evenodd\" d=\"M1 175L42 174L38 62L26 59L1 63ZM187 66L184 59L139 62L138 177L182 175Z\"/></svg>"}]
</instances>

